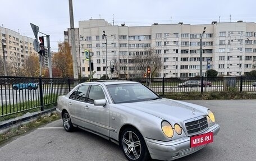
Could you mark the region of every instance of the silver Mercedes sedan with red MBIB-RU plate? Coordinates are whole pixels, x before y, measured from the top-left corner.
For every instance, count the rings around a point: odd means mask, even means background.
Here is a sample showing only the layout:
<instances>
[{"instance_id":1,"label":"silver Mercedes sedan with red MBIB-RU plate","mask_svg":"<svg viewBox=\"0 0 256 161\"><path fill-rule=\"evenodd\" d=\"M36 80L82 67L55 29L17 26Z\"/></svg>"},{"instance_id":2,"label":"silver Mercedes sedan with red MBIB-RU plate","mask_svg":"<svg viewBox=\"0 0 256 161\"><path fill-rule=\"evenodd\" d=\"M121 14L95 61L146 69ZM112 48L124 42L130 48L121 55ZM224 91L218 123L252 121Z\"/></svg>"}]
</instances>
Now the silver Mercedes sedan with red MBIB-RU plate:
<instances>
[{"instance_id":1,"label":"silver Mercedes sedan with red MBIB-RU plate","mask_svg":"<svg viewBox=\"0 0 256 161\"><path fill-rule=\"evenodd\" d=\"M161 98L132 81L84 82L58 97L63 127L120 145L128 160L174 160L213 141L220 126L210 109Z\"/></svg>"}]
</instances>

